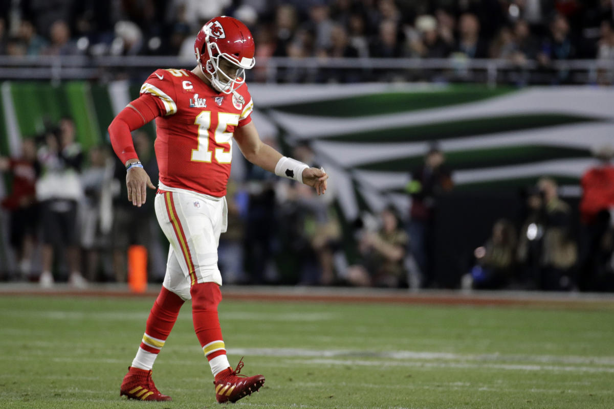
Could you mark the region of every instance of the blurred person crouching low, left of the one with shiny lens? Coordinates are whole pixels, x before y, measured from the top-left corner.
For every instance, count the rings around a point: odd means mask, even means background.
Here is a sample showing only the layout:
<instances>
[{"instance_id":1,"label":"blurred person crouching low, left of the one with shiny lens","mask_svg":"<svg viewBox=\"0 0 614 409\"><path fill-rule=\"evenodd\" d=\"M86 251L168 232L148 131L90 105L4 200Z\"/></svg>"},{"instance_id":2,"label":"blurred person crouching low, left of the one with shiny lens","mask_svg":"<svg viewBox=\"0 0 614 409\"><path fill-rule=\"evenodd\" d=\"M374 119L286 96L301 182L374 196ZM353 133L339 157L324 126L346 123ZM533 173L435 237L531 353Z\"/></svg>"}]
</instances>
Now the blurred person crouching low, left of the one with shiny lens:
<instances>
[{"instance_id":1,"label":"blurred person crouching low, left of the one with shiny lens","mask_svg":"<svg viewBox=\"0 0 614 409\"><path fill-rule=\"evenodd\" d=\"M492 235L473 251L476 264L462 279L465 289L500 289L515 278L516 229L510 221L501 219L492 226Z\"/></svg>"}]
</instances>

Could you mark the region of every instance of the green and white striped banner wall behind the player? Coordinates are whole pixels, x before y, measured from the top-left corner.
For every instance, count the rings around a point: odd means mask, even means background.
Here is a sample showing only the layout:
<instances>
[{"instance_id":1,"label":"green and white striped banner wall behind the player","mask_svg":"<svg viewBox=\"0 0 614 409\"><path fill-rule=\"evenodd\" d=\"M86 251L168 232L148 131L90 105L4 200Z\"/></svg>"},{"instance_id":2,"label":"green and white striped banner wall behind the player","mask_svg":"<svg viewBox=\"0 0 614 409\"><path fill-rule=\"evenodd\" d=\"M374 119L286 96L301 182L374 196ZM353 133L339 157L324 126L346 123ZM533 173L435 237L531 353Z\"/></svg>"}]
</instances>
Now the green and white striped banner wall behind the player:
<instances>
[{"instance_id":1,"label":"green and white striped banner wall behind the player","mask_svg":"<svg viewBox=\"0 0 614 409\"><path fill-rule=\"evenodd\" d=\"M140 84L0 83L0 155L63 115L85 148L107 140ZM614 145L614 88L479 85L252 85L261 136L309 140L348 219L407 205L409 172L437 141L459 189L502 188L550 175L577 184L591 151ZM153 133L153 126L147 131Z\"/></svg>"}]
</instances>

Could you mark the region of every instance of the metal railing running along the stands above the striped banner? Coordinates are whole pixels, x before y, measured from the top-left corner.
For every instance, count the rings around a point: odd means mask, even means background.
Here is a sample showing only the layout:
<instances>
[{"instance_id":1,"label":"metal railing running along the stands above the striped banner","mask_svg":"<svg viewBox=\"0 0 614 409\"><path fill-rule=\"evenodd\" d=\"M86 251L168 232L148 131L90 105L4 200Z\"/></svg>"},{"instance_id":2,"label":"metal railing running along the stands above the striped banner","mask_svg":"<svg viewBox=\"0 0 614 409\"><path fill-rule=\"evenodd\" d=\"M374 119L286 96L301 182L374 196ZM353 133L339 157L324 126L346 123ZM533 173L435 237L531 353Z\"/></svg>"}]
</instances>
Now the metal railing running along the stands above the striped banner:
<instances>
[{"instance_id":1,"label":"metal railing running along the stands above the striped banner","mask_svg":"<svg viewBox=\"0 0 614 409\"><path fill-rule=\"evenodd\" d=\"M160 67L192 69L176 56L0 56L0 80L141 78ZM575 59L515 64L507 59L260 58L249 73L257 82L366 82L381 80L497 83L612 83L613 60Z\"/></svg>"}]
</instances>

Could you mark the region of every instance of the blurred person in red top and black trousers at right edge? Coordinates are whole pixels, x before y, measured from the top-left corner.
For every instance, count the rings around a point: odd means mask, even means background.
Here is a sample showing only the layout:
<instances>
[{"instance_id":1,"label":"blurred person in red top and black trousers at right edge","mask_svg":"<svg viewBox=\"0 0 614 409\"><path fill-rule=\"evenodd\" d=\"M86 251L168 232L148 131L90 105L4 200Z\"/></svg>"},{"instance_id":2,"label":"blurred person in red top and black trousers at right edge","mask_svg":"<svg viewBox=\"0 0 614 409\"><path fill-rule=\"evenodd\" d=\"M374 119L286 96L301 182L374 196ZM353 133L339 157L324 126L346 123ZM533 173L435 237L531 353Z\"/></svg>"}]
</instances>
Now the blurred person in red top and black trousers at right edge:
<instances>
[{"instance_id":1,"label":"blurred person in red top and black trousers at right edge","mask_svg":"<svg viewBox=\"0 0 614 409\"><path fill-rule=\"evenodd\" d=\"M578 286L583 291L599 291L609 286L605 277L611 275L612 232L614 229L614 149L603 147L596 151L599 166L582 176L580 201L580 273Z\"/></svg>"}]
</instances>

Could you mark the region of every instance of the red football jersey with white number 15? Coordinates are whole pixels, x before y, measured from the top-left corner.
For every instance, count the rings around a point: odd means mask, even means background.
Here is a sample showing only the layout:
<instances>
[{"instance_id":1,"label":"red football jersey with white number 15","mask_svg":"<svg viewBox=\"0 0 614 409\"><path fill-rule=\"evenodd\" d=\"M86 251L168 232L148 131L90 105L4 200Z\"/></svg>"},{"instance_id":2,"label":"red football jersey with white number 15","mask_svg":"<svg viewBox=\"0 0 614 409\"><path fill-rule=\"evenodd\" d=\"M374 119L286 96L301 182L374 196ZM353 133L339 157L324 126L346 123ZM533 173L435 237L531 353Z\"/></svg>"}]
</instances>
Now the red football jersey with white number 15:
<instances>
[{"instance_id":1,"label":"red football jersey with white number 15","mask_svg":"<svg viewBox=\"0 0 614 409\"><path fill-rule=\"evenodd\" d=\"M233 132L251 122L254 108L247 85L218 93L193 72L158 69L141 87L160 112L155 118L155 153L160 182L210 196L226 194Z\"/></svg>"}]
</instances>

